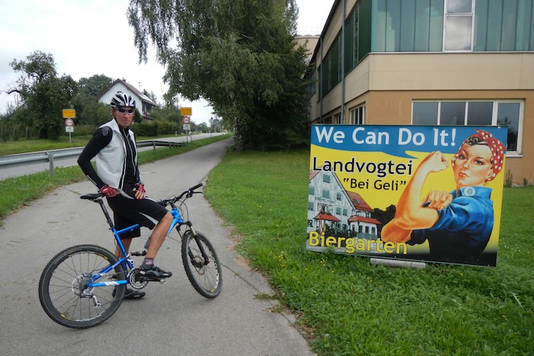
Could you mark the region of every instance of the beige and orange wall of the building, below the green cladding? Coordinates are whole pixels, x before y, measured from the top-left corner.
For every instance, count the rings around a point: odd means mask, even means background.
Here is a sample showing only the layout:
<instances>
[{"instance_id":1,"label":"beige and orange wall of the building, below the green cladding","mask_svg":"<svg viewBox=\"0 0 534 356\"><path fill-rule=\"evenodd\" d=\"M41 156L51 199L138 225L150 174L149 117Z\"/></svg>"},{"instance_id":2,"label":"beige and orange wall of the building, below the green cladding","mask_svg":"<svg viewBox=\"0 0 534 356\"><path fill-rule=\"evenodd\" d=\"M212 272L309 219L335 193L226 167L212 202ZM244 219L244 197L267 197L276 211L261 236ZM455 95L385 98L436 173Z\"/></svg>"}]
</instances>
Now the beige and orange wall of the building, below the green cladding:
<instances>
[{"instance_id":1,"label":"beige and orange wall of the building, below the green cladding","mask_svg":"<svg viewBox=\"0 0 534 356\"><path fill-rule=\"evenodd\" d=\"M319 92L310 121L320 117ZM513 184L534 184L534 53L378 53L345 77L345 122L365 104L367 125L411 125L413 100L524 100L518 155L508 154ZM323 99L323 118L341 111L338 83Z\"/></svg>"}]
</instances>

